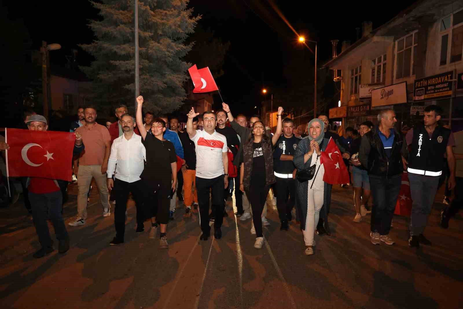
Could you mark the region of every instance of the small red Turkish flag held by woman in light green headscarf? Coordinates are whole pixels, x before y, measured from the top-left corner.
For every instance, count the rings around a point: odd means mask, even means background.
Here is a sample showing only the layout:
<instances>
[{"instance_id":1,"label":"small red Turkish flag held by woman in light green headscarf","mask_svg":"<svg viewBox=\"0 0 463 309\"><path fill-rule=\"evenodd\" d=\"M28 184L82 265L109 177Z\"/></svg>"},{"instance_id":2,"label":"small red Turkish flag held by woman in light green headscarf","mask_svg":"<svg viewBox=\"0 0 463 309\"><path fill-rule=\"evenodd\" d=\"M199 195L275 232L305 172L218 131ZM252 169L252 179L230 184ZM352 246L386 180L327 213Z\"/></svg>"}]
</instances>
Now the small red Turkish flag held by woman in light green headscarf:
<instances>
[{"instance_id":1,"label":"small red Turkish flag held by woman in light green headscarf","mask_svg":"<svg viewBox=\"0 0 463 309\"><path fill-rule=\"evenodd\" d=\"M325 175L323 175L325 183L349 183L349 171L333 138L330 138L325 151L321 152L320 163L325 168Z\"/></svg>"}]
</instances>

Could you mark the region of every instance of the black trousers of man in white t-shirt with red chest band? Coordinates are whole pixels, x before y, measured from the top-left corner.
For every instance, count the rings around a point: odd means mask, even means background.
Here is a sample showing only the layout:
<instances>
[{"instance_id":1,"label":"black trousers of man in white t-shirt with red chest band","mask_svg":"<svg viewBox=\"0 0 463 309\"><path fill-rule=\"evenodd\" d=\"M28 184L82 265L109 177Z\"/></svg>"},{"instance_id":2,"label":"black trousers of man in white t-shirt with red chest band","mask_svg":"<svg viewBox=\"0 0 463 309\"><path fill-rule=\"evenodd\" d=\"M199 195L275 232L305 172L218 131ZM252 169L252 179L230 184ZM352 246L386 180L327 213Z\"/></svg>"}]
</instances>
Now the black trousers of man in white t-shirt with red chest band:
<instances>
[{"instance_id":1,"label":"black trousers of man in white t-shirt with red chest band","mask_svg":"<svg viewBox=\"0 0 463 309\"><path fill-rule=\"evenodd\" d=\"M214 228L219 229L224 220L224 175L212 179L196 177L196 190L200 208L200 227L205 234L210 234L209 226L209 189L212 195L212 209L214 212Z\"/></svg>"}]
</instances>

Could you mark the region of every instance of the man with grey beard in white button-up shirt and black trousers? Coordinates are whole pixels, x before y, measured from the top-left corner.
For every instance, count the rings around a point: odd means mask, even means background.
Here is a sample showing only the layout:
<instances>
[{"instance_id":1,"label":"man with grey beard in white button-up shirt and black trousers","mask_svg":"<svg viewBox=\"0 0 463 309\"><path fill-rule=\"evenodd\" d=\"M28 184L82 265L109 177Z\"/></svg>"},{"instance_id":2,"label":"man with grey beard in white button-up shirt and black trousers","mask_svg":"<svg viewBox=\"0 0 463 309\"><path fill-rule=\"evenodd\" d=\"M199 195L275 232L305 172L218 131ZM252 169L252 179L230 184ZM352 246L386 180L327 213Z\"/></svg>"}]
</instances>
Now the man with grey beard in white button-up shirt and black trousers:
<instances>
[{"instance_id":1,"label":"man with grey beard in white button-up shirt and black trousers","mask_svg":"<svg viewBox=\"0 0 463 309\"><path fill-rule=\"evenodd\" d=\"M137 233L144 231L142 209L144 186L140 175L144 169L144 161L146 161L146 150L142 144L141 136L133 132L135 127L133 117L124 114L120 121L124 134L113 141L107 171L107 186L110 191L114 190L116 198L116 209L114 210L116 236L109 243L112 246L124 243L125 209L129 192L132 192L137 207ZM116 180L113 180L113 175Z\"/></svg>"}]
</instances>

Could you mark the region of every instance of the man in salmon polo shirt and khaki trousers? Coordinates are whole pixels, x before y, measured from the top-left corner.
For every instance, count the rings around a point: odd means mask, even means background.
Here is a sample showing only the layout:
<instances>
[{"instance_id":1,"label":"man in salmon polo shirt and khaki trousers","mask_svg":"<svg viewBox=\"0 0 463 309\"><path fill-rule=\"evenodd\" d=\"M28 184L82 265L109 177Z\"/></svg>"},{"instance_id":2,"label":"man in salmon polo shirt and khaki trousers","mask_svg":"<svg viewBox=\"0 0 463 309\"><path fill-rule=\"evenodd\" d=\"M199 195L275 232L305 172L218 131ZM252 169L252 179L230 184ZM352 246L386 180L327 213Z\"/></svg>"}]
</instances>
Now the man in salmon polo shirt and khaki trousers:
<instances>
[{"instance_id":1,"label":"man in salmon polo shirt and khaki trousers","mask_svg":"<svg viewBox=\"0 0 463 309\"><path fill-rule=\"evenodd\" d=\"M86 145L85 150L79 157L79 165L75 163L74 170L77 174L77 195L78 215L75 221L69 222L72 227L85 224L87 220L87 194L92 178L95 179L100 193L100 202L103 206L103 217L109 217L110 206L108 199L108 188L106 186L106 170L111 152L111 136L105 126L96 123L96 109L93 106L84 108L85 125L77 128L82 140Z\"/></svg>"}]
</instances>

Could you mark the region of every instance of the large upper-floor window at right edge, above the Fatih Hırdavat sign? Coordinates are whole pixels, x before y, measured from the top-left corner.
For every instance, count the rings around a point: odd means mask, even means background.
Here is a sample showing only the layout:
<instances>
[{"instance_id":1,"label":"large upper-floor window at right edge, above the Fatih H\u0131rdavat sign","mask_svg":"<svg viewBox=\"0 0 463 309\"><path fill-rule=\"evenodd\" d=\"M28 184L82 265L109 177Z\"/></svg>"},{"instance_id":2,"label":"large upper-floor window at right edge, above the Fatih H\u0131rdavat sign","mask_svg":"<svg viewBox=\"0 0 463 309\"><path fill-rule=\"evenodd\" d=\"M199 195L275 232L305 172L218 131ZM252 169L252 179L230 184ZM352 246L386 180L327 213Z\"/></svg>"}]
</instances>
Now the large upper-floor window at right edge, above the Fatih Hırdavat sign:
<instances>
[{"instance_id":1,"label":"large upper-floor window at right edge, above the Fatih H\u0131rdavat sign","mask_svg":"<svg viewBox=\"0 0 463 309\"><path fill-rule=\"evenodd\" d=\"M441 19L439 65L461 61L463 56L463 10Z\"/></svg>"}]
</instances>

